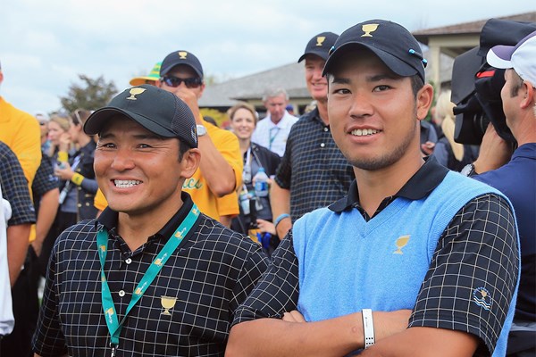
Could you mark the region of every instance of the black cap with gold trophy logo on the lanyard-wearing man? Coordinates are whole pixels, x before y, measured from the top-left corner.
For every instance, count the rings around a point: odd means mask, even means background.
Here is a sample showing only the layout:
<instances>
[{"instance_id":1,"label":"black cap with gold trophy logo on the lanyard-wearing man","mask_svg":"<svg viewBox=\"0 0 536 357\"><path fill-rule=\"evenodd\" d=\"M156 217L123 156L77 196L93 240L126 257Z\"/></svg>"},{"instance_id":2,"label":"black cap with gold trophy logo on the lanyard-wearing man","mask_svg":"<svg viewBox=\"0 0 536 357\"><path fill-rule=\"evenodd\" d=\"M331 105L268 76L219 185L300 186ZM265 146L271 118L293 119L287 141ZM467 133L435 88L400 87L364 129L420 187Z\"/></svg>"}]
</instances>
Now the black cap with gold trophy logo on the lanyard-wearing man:
<instances>
[{"instance_id":1,"label":"black cap with gold trophy logo on the lanyard-wearing man","mask_svg":"<svg viewBox=\"0 0 536 357\"><path fill-rule=\"evenodd\" d=\"M93 112L84 124L84 132L96 135L114 115L136 121L160 137L177 137L189 147L197 147L196 119L177 95L144 84L125 89L103 108Z\"/></svg>"}]
</instances>

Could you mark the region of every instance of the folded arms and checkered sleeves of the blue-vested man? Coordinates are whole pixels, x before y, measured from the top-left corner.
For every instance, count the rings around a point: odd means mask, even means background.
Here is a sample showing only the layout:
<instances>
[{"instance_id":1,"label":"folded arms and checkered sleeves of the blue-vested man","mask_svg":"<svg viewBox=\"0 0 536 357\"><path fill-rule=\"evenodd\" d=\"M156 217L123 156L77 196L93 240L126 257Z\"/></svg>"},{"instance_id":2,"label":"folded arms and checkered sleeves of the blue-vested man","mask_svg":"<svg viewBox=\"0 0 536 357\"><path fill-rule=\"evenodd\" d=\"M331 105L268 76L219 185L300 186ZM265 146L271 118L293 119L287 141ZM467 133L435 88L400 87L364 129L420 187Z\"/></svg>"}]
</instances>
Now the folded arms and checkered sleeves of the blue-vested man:
<instances>
[{"instance_id":1,"label":"folded arms and checkered sleeves of the blue-vested man","mask_svg":"<svg viewBox=\"0 0 536 357\"><path fill-rule=\"evenodd\" d=\"M492 223L487 219L474 218L467 212L501 212L501 220ZM376 343L362 355L457 357L472 356L479 347L484 353L490 353L497 346L517 279L512 212L497 195L482 195L467 203L453 222L453 227L465 233L460 235L456 229L446 230L423 280L409 325L407 311L374 311ZM500 236L497 235L497 227L504 229ZM508 246L500 245L498 240ZM471 255L478 258L460 261L467 254L456 253L457 245L472 245L474 251L470 251ZM503 246L504 250L498 249L498 246ZM304 320L292 312L290 317L286 314L281 320L285 311L297 309L299 286L296 255L283 251L292 252L288 237L274 254L269 270L238 309L235 325L230 330L227 355L341 356L363 348L360 312L309 323L298 323ZM478 265L474 265L476 261ZM501 263L496 266L492 262ZM460 269L476 271L477 278L486 276L482 274L487 272L489 278L482 286L488 286L490 291L495 292L491 311L483 311L473 303L473 285L465 284L459 272L456 274ZM503 280L498 283L491 276L502 277ZM454 295L451 286L456 286ZM286 290L283 295L281 289ZM435 303L440 305L433 307ZM290 322L292 320L294 322Z\"/></svg>"}]
</instances>

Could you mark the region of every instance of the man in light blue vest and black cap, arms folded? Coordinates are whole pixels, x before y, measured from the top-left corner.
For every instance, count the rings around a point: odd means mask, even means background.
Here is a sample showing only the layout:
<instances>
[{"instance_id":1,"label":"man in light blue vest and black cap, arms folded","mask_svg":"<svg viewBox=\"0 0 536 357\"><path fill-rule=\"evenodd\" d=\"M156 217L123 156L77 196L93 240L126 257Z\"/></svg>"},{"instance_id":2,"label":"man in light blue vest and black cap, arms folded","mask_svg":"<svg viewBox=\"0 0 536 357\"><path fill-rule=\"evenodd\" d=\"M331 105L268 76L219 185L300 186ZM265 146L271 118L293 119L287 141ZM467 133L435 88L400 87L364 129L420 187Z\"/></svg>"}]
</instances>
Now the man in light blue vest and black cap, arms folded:
<instances>
[{"instance_id":1,"label":"man in light blue vest and black cap, arms folded","mask_svg":"<svg viewBox=\"0 0 536 357\"><path fill-rule=\"evenodd\" d=\"M356 181L296 221L236 311L229 356L506 353L519 278L513 209L423 160L419 120L433 96L423 64L415 37L390 21L337 39L324 67L328 112Z\"/></svg>"}]
</instances>

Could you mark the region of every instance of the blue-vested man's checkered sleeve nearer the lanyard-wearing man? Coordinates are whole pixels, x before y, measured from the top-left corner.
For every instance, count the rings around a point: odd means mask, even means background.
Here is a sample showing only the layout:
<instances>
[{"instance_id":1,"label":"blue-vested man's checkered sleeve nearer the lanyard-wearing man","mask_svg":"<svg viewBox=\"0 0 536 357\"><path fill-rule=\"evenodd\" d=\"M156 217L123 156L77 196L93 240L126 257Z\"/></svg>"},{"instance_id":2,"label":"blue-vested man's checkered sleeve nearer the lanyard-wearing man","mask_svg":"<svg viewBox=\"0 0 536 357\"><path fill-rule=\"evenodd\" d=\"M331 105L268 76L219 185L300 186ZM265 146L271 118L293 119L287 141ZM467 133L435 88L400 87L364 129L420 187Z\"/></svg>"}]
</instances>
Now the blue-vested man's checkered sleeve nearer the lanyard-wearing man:
<instances>
[{"instance_id":1,"label":"blue-vested man's checkered sleeve nearer the lanyard-wearing man","mask_svg":"<svg viewBox=\"0 0 536 357\"><path fill-rule=\"evenodd\" d=\"M298 267L289 232L275 252L272 263L238 310L232 325L261 318L281 319L285 311L297 309Z\"/></svg>"}]
</instances>

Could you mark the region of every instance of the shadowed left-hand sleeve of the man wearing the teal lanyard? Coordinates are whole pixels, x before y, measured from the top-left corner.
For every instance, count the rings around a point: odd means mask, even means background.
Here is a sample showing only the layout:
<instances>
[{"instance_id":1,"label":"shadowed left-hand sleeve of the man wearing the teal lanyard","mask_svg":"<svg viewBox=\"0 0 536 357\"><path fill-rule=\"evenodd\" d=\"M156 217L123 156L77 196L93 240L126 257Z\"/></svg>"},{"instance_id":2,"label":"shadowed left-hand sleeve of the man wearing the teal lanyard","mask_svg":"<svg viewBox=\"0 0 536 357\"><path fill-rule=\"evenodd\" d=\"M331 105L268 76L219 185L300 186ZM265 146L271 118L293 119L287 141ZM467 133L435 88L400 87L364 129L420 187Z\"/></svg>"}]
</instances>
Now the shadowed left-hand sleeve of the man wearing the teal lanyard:
<instances>
[{"instance_id":1,"label":"shadowed left-hand sleeve of the man wearing the teal lanyard","mask_svg":"<svg viewBox=\"0 0 536 357\"><path fill-rule=\"evenodd\" d=\"M66 232L63 232L57 240L62 240L65 234ZM43 357L63 356L67 354L65 337L63 336L61 322L59 320L59 311L57 310L58 303L56 301L56 297L58 296L55 288L57 246L56 242L48 262L46 286L43 295L43 303L41 304L41 310L39 311L38 328L32 339L33 351Z\"/></svg>"}]
</instances>

